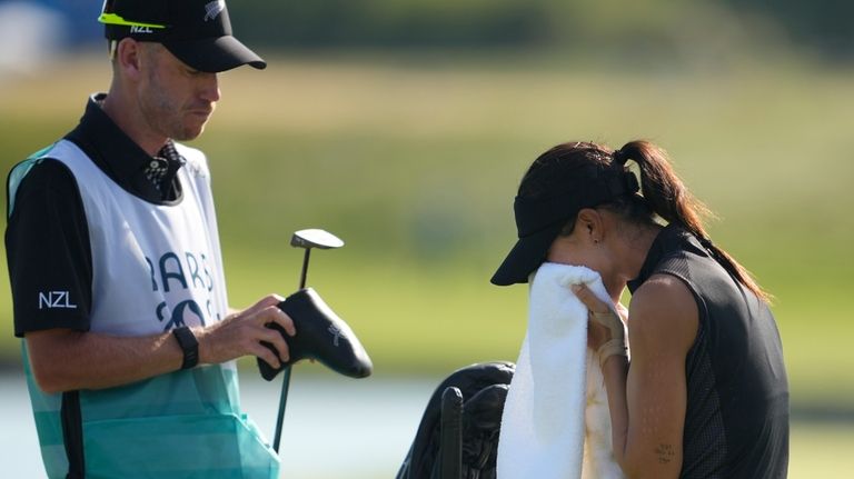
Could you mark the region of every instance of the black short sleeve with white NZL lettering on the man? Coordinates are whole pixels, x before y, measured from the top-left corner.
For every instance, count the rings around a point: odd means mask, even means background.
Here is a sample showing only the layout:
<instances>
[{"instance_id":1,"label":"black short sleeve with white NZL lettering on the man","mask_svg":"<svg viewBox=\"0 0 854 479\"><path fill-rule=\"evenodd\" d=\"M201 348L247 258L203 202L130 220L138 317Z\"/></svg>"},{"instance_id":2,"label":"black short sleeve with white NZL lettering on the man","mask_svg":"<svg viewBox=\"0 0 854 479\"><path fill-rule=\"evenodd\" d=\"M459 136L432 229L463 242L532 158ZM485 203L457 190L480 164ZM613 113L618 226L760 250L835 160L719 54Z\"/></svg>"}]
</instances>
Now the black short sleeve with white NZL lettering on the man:
<instances>
[{"instance_id":1,"label":"black short sleeve with white NZL lettering on the man","mask_svg":"<svg viewBox=\"0 0 854 479\"><path fill-rule=\"evenodd\" d=\"M92 260L89 228L71 171L37 160L9 192L6 255L14 336L63 328L89 330Z\"/></svg>"}]
</instances>

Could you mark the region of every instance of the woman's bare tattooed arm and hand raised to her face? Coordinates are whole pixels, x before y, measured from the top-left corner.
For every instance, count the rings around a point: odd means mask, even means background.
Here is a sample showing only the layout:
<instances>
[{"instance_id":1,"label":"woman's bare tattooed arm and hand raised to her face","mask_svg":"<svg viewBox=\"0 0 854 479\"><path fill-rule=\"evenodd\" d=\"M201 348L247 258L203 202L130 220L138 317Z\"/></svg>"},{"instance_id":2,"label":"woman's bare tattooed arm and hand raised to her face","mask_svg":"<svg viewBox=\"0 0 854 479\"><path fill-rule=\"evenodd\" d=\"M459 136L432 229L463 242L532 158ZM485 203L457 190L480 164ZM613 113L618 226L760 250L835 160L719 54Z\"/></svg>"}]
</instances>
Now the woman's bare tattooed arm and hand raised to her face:
<instances>
[{"instance_id":1,"label":"woman's bare tattooed arm and hand raised to her face","mask_svg":"<svg viewBox=\"0 0 854 479\"><path fill-rule=\"evenodd\" d=\"M597 350L622 329L609 305L586 288L579 299L592 311L588 340ZM677 478L687 410L685 358L696 337L698 316L691 291L672 277L647 281L632 297L628 342L632 367L608 348L603 375L612 420L614 458L628 478ZM598 312L597 312L598 311Z\"/></svg>"}]
</instances>

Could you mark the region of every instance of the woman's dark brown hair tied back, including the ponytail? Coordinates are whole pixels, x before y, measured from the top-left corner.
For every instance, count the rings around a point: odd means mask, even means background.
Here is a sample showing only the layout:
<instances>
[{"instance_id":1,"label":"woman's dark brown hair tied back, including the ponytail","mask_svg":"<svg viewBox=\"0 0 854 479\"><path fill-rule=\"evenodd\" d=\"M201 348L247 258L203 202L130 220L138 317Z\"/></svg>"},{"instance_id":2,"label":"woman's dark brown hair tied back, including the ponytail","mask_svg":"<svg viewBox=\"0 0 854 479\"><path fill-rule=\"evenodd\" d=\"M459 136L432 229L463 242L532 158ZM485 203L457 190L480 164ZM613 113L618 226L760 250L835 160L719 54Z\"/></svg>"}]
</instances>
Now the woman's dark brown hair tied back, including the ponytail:
<instances>
[{"instance_id":1,"label":"woman's dark brown hair tied back, including the ponytail","mask_svg":"<svg viewBox=\"0 0 854 479\"><path fill-rule=\"evenodd\" d=\"M616 151L593 142L558 144L534 161L519 184L518 194L527 198L555 196L567 184L578 184L597 174L597 171L625 170L629 160L639 167L643 196L624 194L597 208L607 208L637 224L655 224L658 217L667 223L681 226L694 234L738 282L768 302L771 296L751 273L708 239L703 218L711 214L709 210L685 188L674 172L667 153L648 141L629 141ZM575 220L575 216L569 218L562 234L572 234Z\"/></svg>"}]
</instances>

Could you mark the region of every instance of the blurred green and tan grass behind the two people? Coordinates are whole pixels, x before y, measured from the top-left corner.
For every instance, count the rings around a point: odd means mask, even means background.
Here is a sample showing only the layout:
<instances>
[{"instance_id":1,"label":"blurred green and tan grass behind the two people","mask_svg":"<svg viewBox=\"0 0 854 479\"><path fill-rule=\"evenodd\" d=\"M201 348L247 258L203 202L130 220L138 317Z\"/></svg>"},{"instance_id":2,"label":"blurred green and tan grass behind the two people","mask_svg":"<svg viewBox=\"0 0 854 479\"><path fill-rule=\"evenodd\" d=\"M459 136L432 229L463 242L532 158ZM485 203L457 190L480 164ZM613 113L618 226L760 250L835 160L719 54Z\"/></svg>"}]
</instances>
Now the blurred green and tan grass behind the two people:
<instances>
[{"instance_id":1,"label":"blurred green and tan grass behind the two people","mask_svg":"<svg viewBox=\"0 0 854 479\"><path fill-rule=\"evenodd\" d=\"M512 59L515 60L515 59ZM648 138L721 217L711 224L776 297L793 400L846 403L854 255L854 73L779 63L709 72L568 61L274 59L221 77L196 142L210 157L235 306L296 287L291 231L347 241L309 282L386 371L514 359L525 288L488 285L515 236L518 179L566 140ZM0 83L0 164L76 123L103 61ZM57 81L61 78L62 81ZM0 351L16 358L0 276Z\"/></svg>"}]
</instances>

